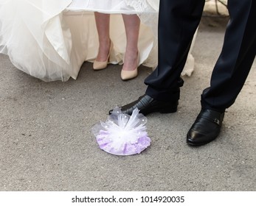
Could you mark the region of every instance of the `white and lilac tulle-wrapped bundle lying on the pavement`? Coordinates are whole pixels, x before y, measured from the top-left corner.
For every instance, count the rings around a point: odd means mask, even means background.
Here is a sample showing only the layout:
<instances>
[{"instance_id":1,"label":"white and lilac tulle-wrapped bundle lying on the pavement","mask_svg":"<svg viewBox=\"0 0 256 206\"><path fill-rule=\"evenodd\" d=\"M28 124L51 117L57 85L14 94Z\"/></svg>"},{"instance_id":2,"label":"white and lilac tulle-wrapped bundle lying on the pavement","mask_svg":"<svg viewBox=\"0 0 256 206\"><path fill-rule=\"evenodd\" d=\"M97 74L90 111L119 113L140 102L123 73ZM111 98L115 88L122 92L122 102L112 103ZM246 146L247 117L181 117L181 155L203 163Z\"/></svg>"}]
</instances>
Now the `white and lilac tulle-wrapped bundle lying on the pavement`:
<instances>
[{"instance_id":1,"label":"white and lilac tulle-wrapped bundle lying on the pavement","mask_svg":"<svg viewBox=\"0 0 256 206\"><path fill-rule=\"evenodd\" d=\"M136 108L131 116L113 110L105 122L100 121L92 128L100 149L116 155L139 154L151 144L146 132L147 118Z\"/></svg>"}]
</instances>

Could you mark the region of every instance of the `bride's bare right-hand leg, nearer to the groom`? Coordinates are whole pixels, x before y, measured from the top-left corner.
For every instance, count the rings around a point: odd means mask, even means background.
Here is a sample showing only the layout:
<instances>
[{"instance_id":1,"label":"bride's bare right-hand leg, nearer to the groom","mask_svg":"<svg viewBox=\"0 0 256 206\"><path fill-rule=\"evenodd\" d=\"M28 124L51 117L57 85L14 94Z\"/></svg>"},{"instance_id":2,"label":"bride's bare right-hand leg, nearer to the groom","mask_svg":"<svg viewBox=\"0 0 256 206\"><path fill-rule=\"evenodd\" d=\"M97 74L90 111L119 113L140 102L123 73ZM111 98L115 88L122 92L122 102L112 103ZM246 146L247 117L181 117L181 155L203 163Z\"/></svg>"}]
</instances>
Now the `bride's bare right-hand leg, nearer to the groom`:
<instances>
[{"instance_id":1,"label":"bride's bare right-hand leg, nearer to the groom","mask_svg":"<svg viewBox=\"0 0 256 206\"><path fill-rule=\"evenodd\" d=\"M137 15L122 15L126 33L125 62L122 66L124 71L132 71L138 66L138 38L140 20Z\"/></svg>"}]
</instances>

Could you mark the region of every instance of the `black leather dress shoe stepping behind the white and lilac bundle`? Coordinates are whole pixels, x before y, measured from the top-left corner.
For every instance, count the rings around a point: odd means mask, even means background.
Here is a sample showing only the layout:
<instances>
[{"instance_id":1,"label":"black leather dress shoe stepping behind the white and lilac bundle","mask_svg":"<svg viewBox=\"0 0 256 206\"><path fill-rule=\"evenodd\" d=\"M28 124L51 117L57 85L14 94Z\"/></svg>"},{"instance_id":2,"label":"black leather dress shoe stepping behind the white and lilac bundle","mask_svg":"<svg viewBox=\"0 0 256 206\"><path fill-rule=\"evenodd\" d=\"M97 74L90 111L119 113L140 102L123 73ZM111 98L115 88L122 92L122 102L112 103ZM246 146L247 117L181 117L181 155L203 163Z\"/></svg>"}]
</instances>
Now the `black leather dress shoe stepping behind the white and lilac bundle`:
<instances>
[{"instance_id":1,"label":"black leather dress shoe stepping behind the white and lilac bundle","mask_svg":"<svg viewBox=\"0 0 256 206\"><path fill-rule=\"evenodd\" d=\"M137 107L139 109L139 113L142 113L144 116L148 115L149 113L156 112L175 113L177 111L178 104L178 100L173 102L161 102L145 94L143 96L140 96L139 99L137 99L136 101L122 106L121 111L122 113L131 115L133 110ZM112 112L113 110L110 110L109 114L111 114Z\"/></svg>"}]
</instances>

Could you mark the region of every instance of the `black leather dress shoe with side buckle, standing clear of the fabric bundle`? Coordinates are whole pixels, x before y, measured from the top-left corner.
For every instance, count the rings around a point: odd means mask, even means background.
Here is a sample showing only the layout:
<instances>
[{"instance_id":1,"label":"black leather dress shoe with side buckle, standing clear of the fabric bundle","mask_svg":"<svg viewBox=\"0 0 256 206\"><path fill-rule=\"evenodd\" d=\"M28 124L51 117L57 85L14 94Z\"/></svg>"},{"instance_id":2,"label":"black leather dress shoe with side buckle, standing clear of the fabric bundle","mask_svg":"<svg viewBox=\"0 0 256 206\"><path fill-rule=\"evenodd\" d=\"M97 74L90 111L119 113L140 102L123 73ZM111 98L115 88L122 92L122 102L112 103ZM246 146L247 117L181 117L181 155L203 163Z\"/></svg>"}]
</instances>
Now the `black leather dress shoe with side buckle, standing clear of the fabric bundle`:
<instances>
[{"instance_id":1,"label":"black leather dress shoe with side buckle, standing clear of the fabric bundle","mask_svg":"<svg viewBox=\"0 0 256 206\"><path fill-rule=\"evenodd\" d=\"M187 132L187 143L192 146L201 146L215 140L221 132L223 119L224 113L202 109Z\"/></svg>"}]
</instances>

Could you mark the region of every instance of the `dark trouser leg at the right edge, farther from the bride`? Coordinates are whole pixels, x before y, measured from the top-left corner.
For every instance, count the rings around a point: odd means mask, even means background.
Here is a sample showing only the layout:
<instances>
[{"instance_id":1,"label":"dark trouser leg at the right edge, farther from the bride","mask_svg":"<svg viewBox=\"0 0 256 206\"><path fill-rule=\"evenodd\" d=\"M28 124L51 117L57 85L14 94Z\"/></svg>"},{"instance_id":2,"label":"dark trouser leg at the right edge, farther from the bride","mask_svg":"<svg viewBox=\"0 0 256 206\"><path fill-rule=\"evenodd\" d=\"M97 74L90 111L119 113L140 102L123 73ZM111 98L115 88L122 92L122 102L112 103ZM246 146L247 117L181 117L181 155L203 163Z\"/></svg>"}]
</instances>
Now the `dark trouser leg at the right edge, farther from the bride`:
<instances>
[{"instance_id":1,"label":"dark trouser leg at the right edge, farther from the bride","mask_svg":"<svg viewBox=\"0 0 256 206\"><path fill-rule=\"evenodd\" d=\"M229 1L229 15L224 46L212 71L210 88L201 95L202 107L212 110L224 111L234 104L255 60L255 1Z\"/></svg>"}]
</instances>

